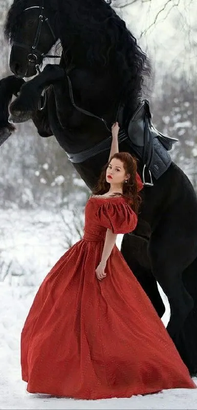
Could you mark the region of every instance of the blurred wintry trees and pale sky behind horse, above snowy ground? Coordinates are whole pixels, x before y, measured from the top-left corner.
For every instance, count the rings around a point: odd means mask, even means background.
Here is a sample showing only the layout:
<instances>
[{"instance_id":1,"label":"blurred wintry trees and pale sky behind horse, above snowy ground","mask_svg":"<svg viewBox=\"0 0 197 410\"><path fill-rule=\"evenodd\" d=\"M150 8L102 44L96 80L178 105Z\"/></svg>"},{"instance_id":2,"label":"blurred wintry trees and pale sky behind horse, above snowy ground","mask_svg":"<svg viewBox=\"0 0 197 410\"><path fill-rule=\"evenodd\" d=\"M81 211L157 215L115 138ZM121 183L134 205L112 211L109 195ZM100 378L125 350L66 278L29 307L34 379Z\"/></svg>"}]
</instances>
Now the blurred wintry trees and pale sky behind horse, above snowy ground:
<instances>
[{"instance_id":1,"label":"blurred wintry trees and pale sky behind horse, above snowy ground","mask_svg":"<svg viewBox=\"0 0 197 410\"><path fill-rule=\"evenodd\" d=\"M10 73L9 48L3 39L3 23L9 3L9 0L0 0L1 78ZM118 7L122 3L125 6ZM126 6L127 3L130 5ZM140 3L143 14L139 28L135 27L135 15L139 14ZM162 8L165 2L160 3ZM195 1L181 0L171 11L170 3L175 1L168 3L153 24L154 7L157 4L159 9L159 1L112 2L115 10L129 22L142 49L151 59L152 78L145 92L151 102L153 123L164 134L179 139L171 152L173 159L197 187L197 33L192 22ZM149 29L143 27L148 21L146 13L153 24ZM169 34L168 27L172 34ZM145 28L148 31L143 34ZM31 122L17 126L14 136L1 147L0 188L3 209L16 206L19 209L62 208L79 192L78 175L55 138L39 137Z\"/></svg>"}]
</instances>

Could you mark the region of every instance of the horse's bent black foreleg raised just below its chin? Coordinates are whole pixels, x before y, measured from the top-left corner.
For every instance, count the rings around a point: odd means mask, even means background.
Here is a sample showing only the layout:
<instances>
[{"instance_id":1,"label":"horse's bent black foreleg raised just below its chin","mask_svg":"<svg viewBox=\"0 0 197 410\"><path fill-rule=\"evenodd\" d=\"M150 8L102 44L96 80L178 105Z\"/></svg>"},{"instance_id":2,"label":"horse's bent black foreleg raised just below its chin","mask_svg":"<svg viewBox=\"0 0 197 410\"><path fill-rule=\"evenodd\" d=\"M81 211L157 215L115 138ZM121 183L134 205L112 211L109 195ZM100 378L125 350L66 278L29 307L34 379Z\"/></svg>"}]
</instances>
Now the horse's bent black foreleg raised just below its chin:
<instances>
[{"instance_id":1,"label":"horse's bent black foreleg raised just below its chin","mask_svg":"<svg viewBox=\"0 0 197 410\"><path fill-rule=\"evenodd\" d=\"M32 118L38 108L45 87L65 78L65 70L59 65L46 65L42 73L23 84L20 95L10 105L9 120L21 123Z\"/></svg>"}]
</instances>

